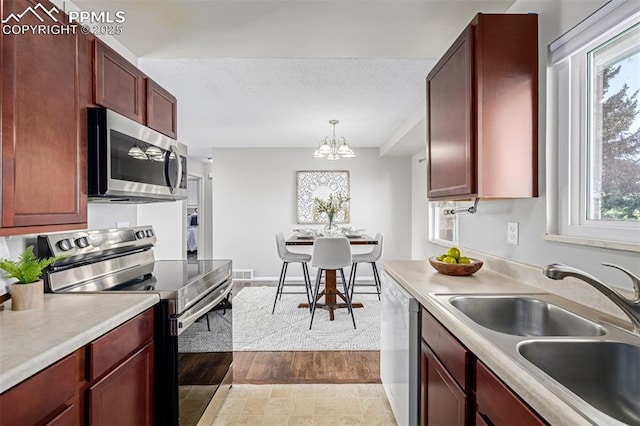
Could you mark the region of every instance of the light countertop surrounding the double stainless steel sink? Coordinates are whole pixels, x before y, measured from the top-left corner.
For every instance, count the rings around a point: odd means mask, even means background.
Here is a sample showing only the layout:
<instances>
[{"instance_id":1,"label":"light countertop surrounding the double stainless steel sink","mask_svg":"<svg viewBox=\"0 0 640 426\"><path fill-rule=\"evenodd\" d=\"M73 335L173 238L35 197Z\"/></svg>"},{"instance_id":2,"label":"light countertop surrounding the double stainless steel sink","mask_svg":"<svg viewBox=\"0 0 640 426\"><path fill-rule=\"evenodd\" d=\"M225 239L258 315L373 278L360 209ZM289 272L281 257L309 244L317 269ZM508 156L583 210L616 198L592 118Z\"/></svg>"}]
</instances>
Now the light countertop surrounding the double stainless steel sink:
<instances>
[{"instance_id":1,"label":"light countertop surrounding the double stainless steel sink","mask_svg":"<svg viewBox=\"0 0 640 426\"><path fill-rule=\"evenodd\" d=\"M553 425L591 424L554 395L544 383L536 380L501 349L447 311L431 296L434 293L545 293L544 290L486 268L469 277L453 277L439 274L426 260L390 260L382 262L382 266L545 420Z\"/></svg>"}]
</instances>

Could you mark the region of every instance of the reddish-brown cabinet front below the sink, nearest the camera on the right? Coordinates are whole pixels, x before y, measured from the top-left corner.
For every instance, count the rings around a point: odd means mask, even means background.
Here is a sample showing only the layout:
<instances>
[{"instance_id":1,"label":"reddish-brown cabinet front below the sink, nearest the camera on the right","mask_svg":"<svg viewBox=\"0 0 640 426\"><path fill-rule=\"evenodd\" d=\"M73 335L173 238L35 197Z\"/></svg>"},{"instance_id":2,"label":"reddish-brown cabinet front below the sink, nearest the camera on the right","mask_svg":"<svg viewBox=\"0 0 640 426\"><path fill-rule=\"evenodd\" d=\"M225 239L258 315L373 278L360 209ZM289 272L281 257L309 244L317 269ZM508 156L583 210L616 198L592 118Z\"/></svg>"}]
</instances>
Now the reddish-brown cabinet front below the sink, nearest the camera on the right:
<instances>
[{"instance_id":1,"label":"reddish-brown cabinet front below the sink, nearest the camera on the right","mask_svg":"<svg viewBox=\"0 0 640 426\"><path fill-rule=\"evenodd\" d=\"M546 424L483 363L476 366L477 411L492 425L534 426Z\"/></svg>"}]
</instances>

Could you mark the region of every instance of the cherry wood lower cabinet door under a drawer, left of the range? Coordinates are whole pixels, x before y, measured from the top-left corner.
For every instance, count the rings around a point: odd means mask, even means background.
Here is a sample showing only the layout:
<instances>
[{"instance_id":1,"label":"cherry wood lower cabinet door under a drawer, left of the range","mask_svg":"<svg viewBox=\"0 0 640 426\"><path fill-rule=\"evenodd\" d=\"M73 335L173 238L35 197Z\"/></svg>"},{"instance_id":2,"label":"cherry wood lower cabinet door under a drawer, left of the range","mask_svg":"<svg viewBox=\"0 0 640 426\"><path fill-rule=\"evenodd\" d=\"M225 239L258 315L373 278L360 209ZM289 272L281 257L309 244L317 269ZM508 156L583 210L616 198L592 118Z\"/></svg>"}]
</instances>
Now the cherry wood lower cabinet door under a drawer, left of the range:
<instances>
[{"instance_id":1,"label":"cherry wood lower cabinet door under a drawer, left of the range","mask_svg":"<svg viewBox=\"0 0 640 426\"><path fill-rule=\"evenodd\" d=\"M153 343L143 347L87 391L89 424L153 422Z\"/></svg>"}]
</instances>

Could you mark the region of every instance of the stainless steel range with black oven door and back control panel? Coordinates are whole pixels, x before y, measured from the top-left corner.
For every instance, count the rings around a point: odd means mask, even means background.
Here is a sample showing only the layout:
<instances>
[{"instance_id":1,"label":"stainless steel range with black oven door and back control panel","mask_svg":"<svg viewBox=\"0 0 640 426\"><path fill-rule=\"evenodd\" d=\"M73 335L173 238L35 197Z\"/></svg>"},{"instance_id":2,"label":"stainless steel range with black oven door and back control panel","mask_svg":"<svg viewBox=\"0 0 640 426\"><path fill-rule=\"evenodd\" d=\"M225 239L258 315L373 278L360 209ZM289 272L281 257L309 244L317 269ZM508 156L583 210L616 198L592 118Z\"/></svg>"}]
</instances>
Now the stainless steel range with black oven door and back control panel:
<instances>
[{"instance_id":1,"label":"stainless steel range with black oven door and back control panel","mask_svg":"<svg viewBox=\"0 0 640 426\"><path fill-rule=\"evenodd\" d=\"M154 422L195 424L211 399L223 396L231 385L231 261L156 261L155 242L151 226L46 234L38 236L38 256L66 256L45 271L48 292L160 295L155 307ZM211 374L202 374L203 366ZM192 388L200 397L195 410L193 400L184 407L181 400Z\"/></svg>"}]
</instances>

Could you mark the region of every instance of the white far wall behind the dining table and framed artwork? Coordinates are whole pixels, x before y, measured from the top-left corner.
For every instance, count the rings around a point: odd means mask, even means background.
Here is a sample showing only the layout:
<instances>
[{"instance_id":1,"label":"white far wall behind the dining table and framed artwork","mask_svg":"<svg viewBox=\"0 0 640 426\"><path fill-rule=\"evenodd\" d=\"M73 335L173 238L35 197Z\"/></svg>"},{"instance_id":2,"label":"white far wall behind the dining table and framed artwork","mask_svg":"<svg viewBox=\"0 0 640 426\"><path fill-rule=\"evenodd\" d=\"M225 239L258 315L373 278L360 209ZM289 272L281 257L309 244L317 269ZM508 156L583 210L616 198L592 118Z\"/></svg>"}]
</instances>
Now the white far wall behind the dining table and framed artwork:
<instances>
[{"instance_id":1,"label":"white far wall behind the dining table and framed artwork","mask_svg":"<svg viewBox=\"0 0 640 426\"><path fill-rule=\"evenodd\" d=\"M230 258L234 269L253 269L256 277L279 275L275 233L290 235L308 226L296 224L298 170L349 170L350 225L373 235L383 232L385 258L409 258L409 158L380 158L368 148L355 150L355 158L329 162L313 158L313 149L213 150L215 258Z\"/></svg>"}]
</instances>

